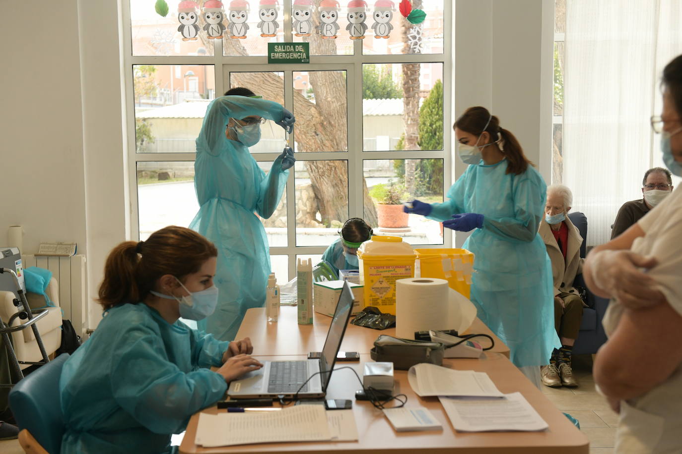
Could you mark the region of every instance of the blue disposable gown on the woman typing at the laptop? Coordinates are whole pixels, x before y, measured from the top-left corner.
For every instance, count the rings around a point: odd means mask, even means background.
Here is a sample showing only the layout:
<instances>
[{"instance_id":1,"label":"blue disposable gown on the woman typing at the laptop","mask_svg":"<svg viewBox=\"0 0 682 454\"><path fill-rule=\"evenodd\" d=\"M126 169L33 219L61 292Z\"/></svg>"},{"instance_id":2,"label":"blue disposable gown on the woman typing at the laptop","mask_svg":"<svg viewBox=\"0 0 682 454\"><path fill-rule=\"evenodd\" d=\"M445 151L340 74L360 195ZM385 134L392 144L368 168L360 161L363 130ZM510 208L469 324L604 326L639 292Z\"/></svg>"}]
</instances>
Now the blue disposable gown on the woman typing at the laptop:
<instances>
[{"instance_id":1,"label":"blue disposable gown on the woman typing at the laptop","mask_svg":"<svg viewBox=\"0 0 682 454\"><path fill-rule=\"evenodd\" d=\"M170 434L224 396L225 379L208 367L228 344L143 303L109 310L64 363L61 454L170 451Z\"/></svg>"}]
</instances>

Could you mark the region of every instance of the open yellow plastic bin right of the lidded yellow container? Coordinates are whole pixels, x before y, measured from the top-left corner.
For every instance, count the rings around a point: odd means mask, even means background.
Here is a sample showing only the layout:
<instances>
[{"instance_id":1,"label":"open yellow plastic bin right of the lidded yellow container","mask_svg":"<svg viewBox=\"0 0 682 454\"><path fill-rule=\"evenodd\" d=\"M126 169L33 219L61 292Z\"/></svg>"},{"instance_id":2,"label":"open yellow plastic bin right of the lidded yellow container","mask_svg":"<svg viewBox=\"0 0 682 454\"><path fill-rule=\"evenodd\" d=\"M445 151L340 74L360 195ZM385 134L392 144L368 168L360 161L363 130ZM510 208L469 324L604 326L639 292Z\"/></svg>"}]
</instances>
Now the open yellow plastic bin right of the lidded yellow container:
<instances>
[{"instance_id":1,"label":"open yellow plastic bin right of the lidded yellow container","mask_svg":"<svg viewBox=\"0 0 682 454\"><path fill-rule=\"evenodd\" d=\"M465 297L471 295L473 253L466 249L415 249L422 278L447 280L449 287Z\"/></svg>"}]
</instances>

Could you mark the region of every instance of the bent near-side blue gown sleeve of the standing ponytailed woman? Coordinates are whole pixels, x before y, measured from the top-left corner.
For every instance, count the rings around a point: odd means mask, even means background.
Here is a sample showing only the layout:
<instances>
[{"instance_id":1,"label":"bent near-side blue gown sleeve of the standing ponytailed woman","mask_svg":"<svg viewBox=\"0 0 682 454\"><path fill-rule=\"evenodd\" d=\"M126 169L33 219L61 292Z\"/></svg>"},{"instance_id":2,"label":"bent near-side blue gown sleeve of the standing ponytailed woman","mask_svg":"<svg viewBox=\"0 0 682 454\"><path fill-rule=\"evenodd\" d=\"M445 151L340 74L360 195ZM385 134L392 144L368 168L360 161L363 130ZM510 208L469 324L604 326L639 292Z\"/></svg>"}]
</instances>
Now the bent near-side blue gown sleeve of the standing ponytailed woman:
<instances>
[{"instance_id":1,"label":"bent near-side blue gown sleeve of the standing ponytailed woman","mask_svg":"<svg viewBox=\"0 0 682 454\"><path fill-rule=\"evenodd\" d=\"M535 239L544 214L546 185L542 180L527 176L519 178L514 184L514 217L494 218L486 216L483 228L511 242L531 242Z\"/></svg>"}]
</instances>

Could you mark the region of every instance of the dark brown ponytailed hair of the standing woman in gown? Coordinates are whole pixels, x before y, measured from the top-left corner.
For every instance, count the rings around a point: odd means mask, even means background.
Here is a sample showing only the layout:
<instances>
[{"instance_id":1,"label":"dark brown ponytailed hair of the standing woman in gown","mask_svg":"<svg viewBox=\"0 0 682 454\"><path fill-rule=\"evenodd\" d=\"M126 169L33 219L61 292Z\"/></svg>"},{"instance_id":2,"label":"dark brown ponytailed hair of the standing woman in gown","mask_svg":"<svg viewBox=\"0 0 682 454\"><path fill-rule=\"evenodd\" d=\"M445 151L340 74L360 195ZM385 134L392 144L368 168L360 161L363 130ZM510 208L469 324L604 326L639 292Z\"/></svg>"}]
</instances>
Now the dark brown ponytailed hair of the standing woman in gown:
<instances>
[{"instance_id":1,"label":"dark brown ponytailed hair of the standing woman in gown","mask_svg":"<svg viewBox=\"0 0 682 454\"><path fill-rule=\"evenodd\" d=\"M464 114L457 118L452 128L461 129L473 135L481 135L484 132L490 134L490 141L496 142L507 158L507 174L520 175L526 172L529 165L535 166L523 154L523 148L514 134L500 127L500 119L491 115L484 107L466 109Z\"/></svg>"}]
</instances>

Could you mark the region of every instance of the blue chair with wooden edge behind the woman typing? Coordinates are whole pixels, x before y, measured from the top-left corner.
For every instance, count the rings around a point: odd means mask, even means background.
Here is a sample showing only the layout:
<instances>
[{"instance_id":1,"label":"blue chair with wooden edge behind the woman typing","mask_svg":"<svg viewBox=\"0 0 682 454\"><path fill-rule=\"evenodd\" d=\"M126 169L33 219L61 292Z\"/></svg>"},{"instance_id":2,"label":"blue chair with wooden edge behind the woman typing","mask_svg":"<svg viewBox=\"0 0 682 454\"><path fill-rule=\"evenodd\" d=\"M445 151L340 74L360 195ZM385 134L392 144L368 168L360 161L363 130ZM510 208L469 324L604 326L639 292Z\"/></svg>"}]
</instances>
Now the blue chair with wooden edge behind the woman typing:
<instances>
[{"instance_id":1,"label":"blue chair with wooden edge behind the woman typing","mask_svg":"<svg viewBox=\"0 0 682 454\"><path fill-rule=\"evenodd\" d=\"M10 408L19 426L19 444L27 453L59 454L64 433L59 376L67 353L31 372L10 391Z\"/></svg>"}]
</instances>

